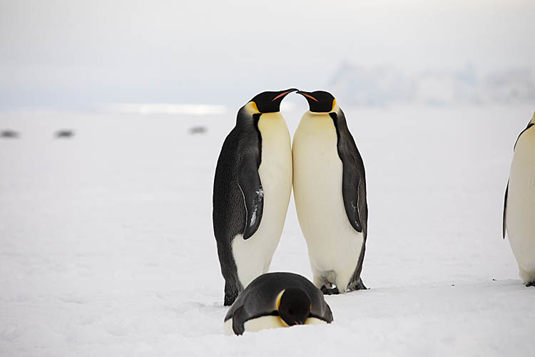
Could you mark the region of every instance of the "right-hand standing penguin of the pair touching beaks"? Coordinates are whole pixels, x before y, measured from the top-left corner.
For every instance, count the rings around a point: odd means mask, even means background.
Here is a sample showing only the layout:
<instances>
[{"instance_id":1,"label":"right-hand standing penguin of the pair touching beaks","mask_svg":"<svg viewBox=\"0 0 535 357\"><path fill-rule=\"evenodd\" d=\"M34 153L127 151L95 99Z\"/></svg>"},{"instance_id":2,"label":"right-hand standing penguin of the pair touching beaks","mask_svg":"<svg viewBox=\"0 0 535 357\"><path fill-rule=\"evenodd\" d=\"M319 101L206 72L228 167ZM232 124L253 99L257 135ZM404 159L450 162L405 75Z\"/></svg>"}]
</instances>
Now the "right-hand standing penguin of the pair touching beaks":
<instances>
[{"instance_id":1,"label":"right-hand standing penguin of the pair touching beaks","mask_svg":"<svg viewBox=\"0 0 535 357\"><path fill-rule=\"evenodd\" d=\"M310 110L293 139L293 192L313 282L327 294L365 289L360 272L368 208L362 157L332 94L297 93Z\"/></svg>"}]
</instances>

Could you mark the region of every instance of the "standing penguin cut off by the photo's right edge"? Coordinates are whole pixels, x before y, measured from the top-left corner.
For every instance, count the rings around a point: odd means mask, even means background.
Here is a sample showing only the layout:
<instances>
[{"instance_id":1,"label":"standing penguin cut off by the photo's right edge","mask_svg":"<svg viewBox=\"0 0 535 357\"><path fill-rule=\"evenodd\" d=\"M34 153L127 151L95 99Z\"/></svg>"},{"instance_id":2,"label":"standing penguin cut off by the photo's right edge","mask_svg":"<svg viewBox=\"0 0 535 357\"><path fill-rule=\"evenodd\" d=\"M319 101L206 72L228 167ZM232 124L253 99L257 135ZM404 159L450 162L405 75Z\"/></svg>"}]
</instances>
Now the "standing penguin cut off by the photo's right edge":
<instances>
[{"instance_id":1,"label":"standing penguin cut off by the photo's right edge","mask_svg":"<svg viewBox=\"0 0 535 357\"><path fill-rule=\"evenodd\" d=\"M514 144L505 190L503 236L526 286L535 286L535 113Z\"/></svg>"}]
</instances>

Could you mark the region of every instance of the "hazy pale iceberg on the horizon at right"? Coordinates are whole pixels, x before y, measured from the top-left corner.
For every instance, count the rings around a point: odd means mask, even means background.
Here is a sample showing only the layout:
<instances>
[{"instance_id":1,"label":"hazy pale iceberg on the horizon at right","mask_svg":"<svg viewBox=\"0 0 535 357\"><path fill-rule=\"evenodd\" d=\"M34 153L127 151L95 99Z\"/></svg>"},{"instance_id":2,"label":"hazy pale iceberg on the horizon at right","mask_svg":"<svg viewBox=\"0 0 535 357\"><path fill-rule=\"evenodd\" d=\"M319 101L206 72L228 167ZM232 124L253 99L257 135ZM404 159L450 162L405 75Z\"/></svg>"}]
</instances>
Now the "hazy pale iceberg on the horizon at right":
<instances>
[{"instance_id":1,"label":"hazy pale iceberg on the horizon at right","mask_svg":"<svg viewBox=\"0 0 535 357\"><path fill-rule=\"evenodd\" d=\"M478 74L474 66L462 69L410 73L390 67L342 63L329 88L345 103L355 106L386 104L535 104L531 69L506 69Z\"/></svg>"}]
</instances>

